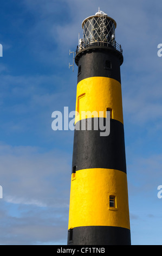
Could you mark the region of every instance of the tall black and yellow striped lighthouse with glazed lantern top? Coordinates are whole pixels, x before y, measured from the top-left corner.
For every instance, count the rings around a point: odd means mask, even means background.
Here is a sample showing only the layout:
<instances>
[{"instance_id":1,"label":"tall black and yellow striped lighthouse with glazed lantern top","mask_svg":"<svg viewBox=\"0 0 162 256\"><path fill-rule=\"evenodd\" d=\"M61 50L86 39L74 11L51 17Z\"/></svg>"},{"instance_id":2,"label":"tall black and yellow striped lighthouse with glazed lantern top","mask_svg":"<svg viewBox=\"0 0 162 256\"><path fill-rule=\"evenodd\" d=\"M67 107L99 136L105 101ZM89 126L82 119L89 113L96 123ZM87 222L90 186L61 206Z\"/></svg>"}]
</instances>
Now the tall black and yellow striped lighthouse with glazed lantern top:
<instances>
[{"instance_id":1,"label":"tall black and yellow striped lighthouse with glazed lantern top","mask_svg":"<svg viewBox=\"0 0 162 256\"><path fill-rule=\"evenodd\" d=\"M99 10L82 22L82 28L75 56L77 114L68 245L131 245L120 81L123 56L115 41L116 22ZM94 123L106 123L107 113L110 133L101 136ZM81 129L89 118L92 129Z\"/></svg>"}]
</instances>

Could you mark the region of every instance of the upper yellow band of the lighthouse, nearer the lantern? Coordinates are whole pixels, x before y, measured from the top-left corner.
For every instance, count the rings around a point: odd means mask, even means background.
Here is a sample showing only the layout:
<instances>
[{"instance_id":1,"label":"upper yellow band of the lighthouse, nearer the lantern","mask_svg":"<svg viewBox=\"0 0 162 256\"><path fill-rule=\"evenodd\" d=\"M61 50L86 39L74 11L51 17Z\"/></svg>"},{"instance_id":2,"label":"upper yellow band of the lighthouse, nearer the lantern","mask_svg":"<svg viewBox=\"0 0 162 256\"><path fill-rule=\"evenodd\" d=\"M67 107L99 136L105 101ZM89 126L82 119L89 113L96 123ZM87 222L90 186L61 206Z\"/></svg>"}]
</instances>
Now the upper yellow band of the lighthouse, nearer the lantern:
<instances>
[{"instance_id":1,"label":"upper yellow band of the lighthouse, nearer the lantern","mask_svg":"<svg viewBox=\"0 0 162 256\"><path fill-rule=\"evenodd\" d=\"M81 111L94 112L93 117L106 117L107 108L112 108L112 118L123 124L121 84L118 81L109 77L89 77L77 84L76 112L79 114L76 113L75 123L91 118L90 113L87 117L81 116Z\"/></svg>"}]
</instances>

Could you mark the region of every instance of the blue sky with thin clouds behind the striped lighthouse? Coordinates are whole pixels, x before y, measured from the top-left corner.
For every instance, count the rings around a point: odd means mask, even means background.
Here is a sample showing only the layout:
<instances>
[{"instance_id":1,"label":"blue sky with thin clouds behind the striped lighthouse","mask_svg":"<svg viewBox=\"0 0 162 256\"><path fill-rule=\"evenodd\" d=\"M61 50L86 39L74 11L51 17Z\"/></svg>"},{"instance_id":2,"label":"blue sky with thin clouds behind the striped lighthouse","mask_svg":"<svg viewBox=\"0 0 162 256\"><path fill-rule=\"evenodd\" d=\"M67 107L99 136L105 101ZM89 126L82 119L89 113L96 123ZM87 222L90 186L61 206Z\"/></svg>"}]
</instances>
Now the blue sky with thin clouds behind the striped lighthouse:
<instances>
[{"instance_id":1,"label":"blue sky with thin clouds behind the striped lighthouse","mask_svg":"<svg viewBox=\"0 0 162 256\"><path fill-rule=\"evenodd\" d=\"M162 4L159 1L1 1L0 243L66 245L73 131L51 113L75 110L68 69L81 22L98 8L117 23L133 245L161 245Z\"/></svg>"}]
</instances>

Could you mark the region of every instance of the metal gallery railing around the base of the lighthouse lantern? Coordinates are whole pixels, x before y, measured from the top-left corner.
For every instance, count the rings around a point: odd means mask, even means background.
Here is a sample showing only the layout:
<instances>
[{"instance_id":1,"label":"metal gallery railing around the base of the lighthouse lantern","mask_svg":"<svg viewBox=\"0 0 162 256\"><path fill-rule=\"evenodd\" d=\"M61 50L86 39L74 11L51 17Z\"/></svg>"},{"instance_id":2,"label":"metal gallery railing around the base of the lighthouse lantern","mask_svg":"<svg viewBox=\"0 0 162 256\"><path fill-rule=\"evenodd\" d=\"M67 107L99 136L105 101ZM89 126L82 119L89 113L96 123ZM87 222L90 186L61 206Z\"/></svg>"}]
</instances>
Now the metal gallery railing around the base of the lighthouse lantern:
<instances>
[{"instance_id":1,"label":"metal gallery railing around the base of the lighthouse lantern","mask_svg":"<svg viewBox=\"0 0 162 256\"><path fill-rule=\"evenodd\" d=\"M113 41L90 41L89 42L81 42L80 45L77 45L76 53L80 52L81 50L88 48L90 46L105 46L105 47L113 47L116 51L120 52L122 54L122 48L121 45L118 44L115 40Z\"/></svg>"}]
</instances>

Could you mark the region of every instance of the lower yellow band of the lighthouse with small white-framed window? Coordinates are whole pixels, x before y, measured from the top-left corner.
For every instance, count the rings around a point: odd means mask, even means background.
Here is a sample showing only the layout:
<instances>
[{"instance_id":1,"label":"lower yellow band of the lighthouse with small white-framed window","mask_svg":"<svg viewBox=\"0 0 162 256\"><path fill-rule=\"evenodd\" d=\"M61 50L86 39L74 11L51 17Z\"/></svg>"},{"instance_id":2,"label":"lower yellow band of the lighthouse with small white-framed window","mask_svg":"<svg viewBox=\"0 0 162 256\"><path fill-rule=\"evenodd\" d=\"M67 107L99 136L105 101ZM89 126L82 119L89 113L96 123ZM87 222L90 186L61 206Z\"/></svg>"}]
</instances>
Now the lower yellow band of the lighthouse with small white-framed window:
<instances>
[{"instance_id":1,"label":"lower yellow band of the lighthouse with small white-framed window","mask_svg":"<svg viewBox=\"0 0 162 256\"><path fill-rule=\"evenodd\" d=\"M109 208L109 196L116 208ZM126 173L94 168L72 174L68 229L90 225L130 229Z\"/></svg>"}]
</instances>

